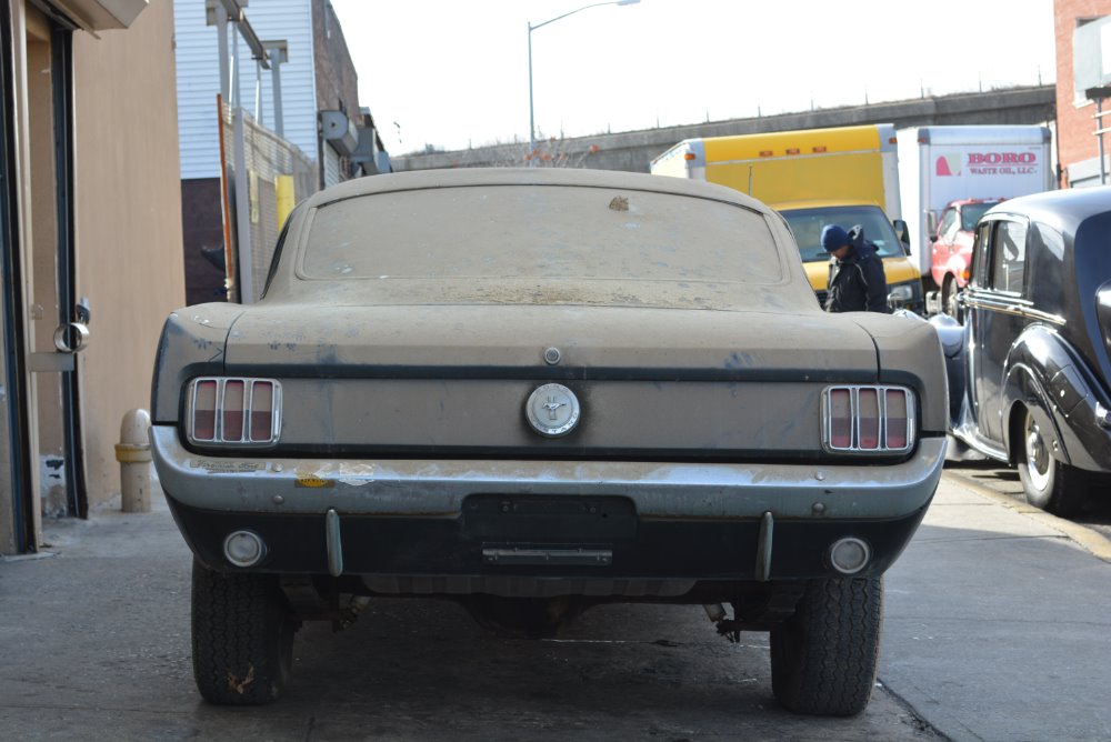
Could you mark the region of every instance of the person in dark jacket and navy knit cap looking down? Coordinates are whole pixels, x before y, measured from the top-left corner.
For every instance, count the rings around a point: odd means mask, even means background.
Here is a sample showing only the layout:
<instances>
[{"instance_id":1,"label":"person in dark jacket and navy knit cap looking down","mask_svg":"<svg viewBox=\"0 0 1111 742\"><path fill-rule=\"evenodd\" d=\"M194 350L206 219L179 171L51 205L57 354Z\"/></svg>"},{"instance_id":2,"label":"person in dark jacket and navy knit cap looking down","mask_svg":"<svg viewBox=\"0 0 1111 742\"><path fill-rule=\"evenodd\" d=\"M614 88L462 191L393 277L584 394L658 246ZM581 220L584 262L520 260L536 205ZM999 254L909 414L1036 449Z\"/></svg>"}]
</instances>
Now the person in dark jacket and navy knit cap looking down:
<instances>
[{"instance_id":1,"label":"person in dark jacket and navy knit cap looking down","mask_svg":"<svg viewBox=\"0 0 1111 742\"><path fill-rule=\"evenodd\" d=\"M864 240L864 228L848 232L838 224L822 229L822 248L830 253L827 312L889 312L888 281L875 247Z\"/></svg>"}]
</instances>

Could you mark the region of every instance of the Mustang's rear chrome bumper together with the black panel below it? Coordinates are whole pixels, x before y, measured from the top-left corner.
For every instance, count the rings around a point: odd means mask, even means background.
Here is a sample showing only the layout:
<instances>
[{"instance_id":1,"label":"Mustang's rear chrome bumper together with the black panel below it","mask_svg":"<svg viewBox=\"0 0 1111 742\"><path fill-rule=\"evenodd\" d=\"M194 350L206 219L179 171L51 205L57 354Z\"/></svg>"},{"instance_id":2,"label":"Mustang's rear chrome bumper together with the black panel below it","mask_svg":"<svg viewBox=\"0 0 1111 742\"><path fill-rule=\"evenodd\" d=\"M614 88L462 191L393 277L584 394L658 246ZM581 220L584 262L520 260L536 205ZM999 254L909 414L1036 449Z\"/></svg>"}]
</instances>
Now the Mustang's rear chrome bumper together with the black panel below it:
<instances>
[{"instance_id":1,"label":"Mustang's rear chrome bumper together with the black panel below it","mask_svg":"<svg viewBox=\"0 0 1111 742\"><path fill-rule=\"evenodd\" d=\"M211 569L361 576L389 593L675 595L694 581L881 574L941 478L944 439L891 465L213 458L154 427L178 527ZM227 541L264 548L249 568Z\"/></svg>"}]
</instances>

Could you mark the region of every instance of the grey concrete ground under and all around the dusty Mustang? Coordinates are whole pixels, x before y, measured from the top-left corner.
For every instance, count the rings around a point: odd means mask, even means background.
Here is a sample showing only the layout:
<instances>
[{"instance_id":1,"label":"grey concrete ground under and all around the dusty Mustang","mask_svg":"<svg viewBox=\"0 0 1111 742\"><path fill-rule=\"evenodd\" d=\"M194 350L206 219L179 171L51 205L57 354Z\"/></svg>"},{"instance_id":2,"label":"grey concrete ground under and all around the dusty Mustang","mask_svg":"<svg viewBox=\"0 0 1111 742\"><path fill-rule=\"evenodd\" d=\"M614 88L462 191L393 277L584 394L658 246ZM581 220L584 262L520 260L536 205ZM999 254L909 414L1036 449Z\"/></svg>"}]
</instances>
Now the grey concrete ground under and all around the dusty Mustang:
<instances>
[{"instance_id":1,"label":"grey concrete ground under and all around the dusty Mustang","mask_svg":"<svg viewBox=\"0 0 1111 742\"><path fill-rule=\"evenodd\" d=\"M284 701L206 706L189 551L154 503L50 521L54 555L0 562L0 738L1111 739L1111 564L951 477L889 572L882 690L853 720L779 710L767 634L728 644L699 606L595 609L552 644L430 601L307 626Z\"/></svg>"}]
</instances>

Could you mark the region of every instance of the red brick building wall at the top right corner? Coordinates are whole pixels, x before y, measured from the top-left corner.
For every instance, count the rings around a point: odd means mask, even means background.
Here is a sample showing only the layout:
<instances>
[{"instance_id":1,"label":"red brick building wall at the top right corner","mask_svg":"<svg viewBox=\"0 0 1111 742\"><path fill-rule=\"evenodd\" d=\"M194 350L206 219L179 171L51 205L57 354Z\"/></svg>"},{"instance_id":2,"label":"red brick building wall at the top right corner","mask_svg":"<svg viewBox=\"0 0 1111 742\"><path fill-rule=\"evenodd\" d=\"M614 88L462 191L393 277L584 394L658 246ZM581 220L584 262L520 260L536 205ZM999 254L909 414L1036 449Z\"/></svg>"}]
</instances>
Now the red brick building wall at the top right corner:
<instances>
[{"instance_id":1,"label":"red brick building wall at the top right corner","mask_svg":"<svg viewBox=\"0 0 1111 742\"><path fill-rule=\"evenodd\" d=\"M1099 156L1099 143L1092 132L1095 121L1093 104L1077 108L1072 69L1072 33L1077 19L1111 16L1111 0L1053 0L1057 36L1057 147L1062 173L1070 164ZM1104 110L1111 101L1104 101ZM1109 122L1111 123L1111 122ZM1105 136L1111 149L1111 136ZM1068 186L1062 174L1061 187Z\"/></svg>"}]
</instances>

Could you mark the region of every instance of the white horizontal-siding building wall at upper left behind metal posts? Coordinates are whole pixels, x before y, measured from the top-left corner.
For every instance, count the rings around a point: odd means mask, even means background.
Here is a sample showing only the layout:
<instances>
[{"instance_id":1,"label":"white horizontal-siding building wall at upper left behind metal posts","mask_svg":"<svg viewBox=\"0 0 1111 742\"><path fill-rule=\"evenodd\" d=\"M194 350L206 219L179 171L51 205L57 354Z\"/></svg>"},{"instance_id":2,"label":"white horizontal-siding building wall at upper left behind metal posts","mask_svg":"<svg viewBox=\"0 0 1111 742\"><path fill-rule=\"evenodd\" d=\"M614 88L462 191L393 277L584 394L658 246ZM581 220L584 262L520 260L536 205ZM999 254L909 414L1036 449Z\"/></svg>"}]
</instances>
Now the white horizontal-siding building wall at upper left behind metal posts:
<instances>
[{"instance_id":1,"label":"white horizontal-siding building wall at upper left behind metal posts","mask_svg":"<svg viewBox=\"0 0 1111 742\"><path fill-rule=\"evenodd\" d=\"M247 7L247 19L259 39L284 39L289 62L282 64L284 137L313 161L317 157L317 92L312 53L310 0L258 0ZM181 178L217 178L220 174L220 91L218 43L214 26L204 24L204 0L173 3L178 71L178 131ZM238 39L238 34L236 34ZM240 40L240 104L252 116L256 103L256 62ZM270 72L262 71L261 123L274 128Z\"/></svg>"}]
</instances>

